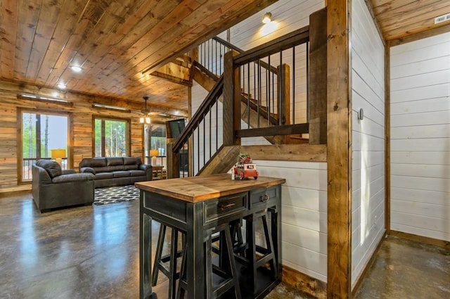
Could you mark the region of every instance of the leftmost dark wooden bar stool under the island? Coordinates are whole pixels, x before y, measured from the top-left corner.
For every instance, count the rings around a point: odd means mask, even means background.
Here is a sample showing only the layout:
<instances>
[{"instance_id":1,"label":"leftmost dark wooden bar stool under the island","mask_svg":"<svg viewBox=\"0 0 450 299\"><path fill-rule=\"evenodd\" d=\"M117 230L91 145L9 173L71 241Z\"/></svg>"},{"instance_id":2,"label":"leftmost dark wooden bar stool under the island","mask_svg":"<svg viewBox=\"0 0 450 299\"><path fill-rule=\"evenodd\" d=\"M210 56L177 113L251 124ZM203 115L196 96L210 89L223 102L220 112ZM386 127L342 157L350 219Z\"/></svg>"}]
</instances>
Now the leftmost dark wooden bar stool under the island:
<instances>
[{"instance_id":1,"label":"leftmost dark wooden bar stool under the island","mask_svg":"<svg viewBox=\"0 0 450 299\"><path fill-rule=\"evenodd\" d=\"M169 278L169 296L167 298L174 299L176 295L176 279L179 278L180 272L176 272L176 262L179 257L183 255L185 246L184 233L171 228L171 244L167 255L162 255L162 248L166 236L167 226L160 224L160 234L158 236L158 245L156 246L155 262L153 263L152 286L155 286L158 281L158 274L162 272ZM178 250L178 234L181 233L181 250ZM175 254L174 254L175 253ZM166 266L169 262L169 267Z\"/></svg>"}]
</instances>

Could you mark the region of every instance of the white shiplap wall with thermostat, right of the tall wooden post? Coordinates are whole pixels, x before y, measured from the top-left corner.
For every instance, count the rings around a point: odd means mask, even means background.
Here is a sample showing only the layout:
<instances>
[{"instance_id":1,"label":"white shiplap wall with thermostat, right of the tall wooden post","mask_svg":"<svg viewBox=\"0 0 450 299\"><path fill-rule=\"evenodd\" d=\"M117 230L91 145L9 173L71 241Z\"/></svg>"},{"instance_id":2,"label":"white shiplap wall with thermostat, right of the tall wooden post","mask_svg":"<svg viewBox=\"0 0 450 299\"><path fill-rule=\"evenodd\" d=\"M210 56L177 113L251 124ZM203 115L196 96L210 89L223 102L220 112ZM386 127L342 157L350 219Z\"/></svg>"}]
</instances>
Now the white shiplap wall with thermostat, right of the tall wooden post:
<instances>
[{"instance_id":1,"label":"white shiplap wall with thermostat, right of the tall wooden post","mask_svg":"<svg viewBox=\"0 0 450 299\"><path fill-rule=\"evenodd\" d=\"M352 2L352 31L353 288L385 231L385 48L364 0Z\"/></svg>"}]
</instances>

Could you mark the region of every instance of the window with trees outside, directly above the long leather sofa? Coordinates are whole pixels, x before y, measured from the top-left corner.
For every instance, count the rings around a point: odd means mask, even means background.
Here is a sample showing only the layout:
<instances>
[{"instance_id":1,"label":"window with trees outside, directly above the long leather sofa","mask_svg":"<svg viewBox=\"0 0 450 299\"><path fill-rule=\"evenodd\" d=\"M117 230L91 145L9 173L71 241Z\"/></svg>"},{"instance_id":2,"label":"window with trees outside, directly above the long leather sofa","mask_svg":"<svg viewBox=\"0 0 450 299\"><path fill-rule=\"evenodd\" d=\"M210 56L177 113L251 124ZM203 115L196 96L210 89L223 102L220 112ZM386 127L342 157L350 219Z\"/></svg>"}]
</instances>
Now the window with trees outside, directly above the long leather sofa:
<instances>
[{"instance_id":1,"label":"window with trees outside, directly above the long leather sofa","mask_svg":"<svg viewBox=\"0 0 450 299\"><path fill-rule=\"evenodd\" d=\"M129 155L129 122L127 120L95 118L95 157L125 157Z\"/></svg>"}]
</instances>

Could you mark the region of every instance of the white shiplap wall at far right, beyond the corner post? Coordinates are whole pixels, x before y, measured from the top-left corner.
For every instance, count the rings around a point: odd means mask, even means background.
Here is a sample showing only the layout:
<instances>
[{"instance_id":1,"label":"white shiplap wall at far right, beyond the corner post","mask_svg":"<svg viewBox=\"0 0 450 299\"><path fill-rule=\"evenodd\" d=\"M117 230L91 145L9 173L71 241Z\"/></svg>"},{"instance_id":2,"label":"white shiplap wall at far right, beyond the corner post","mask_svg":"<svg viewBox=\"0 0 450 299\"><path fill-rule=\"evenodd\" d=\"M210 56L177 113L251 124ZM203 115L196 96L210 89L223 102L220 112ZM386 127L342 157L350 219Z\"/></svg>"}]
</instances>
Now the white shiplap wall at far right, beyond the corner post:
<instances>
[{"instance_id":1,"label":"white shiplap wall at far right, beyond the corner post","mask_svg":"<svg viewBox=\"0 0 450 299\"><path fill-rule=\"evenodd\" d=\"M391 229L450 241L450 32L390 52Z\"/></svg>"}]
</instances>

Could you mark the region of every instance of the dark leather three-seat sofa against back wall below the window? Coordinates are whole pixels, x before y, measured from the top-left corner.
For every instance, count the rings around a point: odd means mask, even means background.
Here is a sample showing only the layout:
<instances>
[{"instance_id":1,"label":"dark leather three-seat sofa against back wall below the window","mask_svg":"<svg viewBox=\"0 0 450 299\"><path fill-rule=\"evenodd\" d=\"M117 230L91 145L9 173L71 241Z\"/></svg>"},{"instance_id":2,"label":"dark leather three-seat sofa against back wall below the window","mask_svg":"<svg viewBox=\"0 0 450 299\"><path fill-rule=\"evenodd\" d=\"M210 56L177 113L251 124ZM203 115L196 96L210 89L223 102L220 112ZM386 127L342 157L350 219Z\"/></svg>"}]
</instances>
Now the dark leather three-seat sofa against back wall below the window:
<instances>
[{"instance_id":1,"label":"dark leather three-seat sofa against back wall below the window","mask_svg":"<svg viewBox=\"0 0 450 299\"><path fill-rule=\"evenodd\" d=\"M141 158L132 157L84 158L79 163L79 172L94 174L96 188L152 179L151 165L143 164Z\"/></svg>"}]
</instances>

